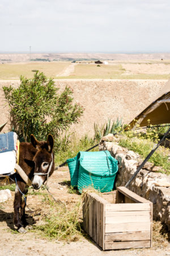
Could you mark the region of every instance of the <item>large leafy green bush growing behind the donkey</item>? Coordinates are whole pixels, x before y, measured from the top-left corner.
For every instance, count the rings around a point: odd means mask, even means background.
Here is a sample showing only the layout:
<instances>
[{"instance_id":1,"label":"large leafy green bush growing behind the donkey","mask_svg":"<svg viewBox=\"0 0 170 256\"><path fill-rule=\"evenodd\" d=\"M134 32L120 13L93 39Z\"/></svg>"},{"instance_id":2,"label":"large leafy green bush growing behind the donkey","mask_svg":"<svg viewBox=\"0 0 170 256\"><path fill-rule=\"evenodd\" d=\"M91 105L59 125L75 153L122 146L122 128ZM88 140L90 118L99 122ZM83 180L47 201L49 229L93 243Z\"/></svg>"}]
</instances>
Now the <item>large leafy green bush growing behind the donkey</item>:
<instances>
[{"instance_id":1,"label":"large leafy green bush growing behind the donkey","mask_svg":"<svg viewBox=\"0 0 170 256\"><path fill-rule=\"evenodd\" d=\"M82 106L73 104L73 90L66 87L57 94L54 81L44 73L36 72L33 79L21 76L19 88L3 86L3 90L10 106L11 129L23 141L29 141L31 134L44 140L51 133L58 145L61 132L83 113Z\"/></svg>"}]
</instances>

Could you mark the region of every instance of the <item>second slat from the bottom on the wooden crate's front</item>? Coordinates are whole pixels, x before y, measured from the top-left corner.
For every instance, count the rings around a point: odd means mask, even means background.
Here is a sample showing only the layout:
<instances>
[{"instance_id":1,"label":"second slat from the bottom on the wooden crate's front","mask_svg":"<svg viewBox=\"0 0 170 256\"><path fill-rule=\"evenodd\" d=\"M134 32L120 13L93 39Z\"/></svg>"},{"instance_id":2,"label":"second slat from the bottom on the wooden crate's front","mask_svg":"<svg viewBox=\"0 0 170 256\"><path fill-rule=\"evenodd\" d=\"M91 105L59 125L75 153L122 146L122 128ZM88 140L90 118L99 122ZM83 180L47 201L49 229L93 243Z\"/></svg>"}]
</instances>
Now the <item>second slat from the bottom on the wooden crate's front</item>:
<instances>
[{"instance_id":1,"label":"second slat from the bottom on the wooden crate's front","mask_svg":"<svg viewBox=\"0 0 170 256\"><path fill-rule=\"evenodd\" d=\"M150 240L150 236L151 236L150 231L107 233L105 234L105 242Z\"/></svg>"}]
</instances>

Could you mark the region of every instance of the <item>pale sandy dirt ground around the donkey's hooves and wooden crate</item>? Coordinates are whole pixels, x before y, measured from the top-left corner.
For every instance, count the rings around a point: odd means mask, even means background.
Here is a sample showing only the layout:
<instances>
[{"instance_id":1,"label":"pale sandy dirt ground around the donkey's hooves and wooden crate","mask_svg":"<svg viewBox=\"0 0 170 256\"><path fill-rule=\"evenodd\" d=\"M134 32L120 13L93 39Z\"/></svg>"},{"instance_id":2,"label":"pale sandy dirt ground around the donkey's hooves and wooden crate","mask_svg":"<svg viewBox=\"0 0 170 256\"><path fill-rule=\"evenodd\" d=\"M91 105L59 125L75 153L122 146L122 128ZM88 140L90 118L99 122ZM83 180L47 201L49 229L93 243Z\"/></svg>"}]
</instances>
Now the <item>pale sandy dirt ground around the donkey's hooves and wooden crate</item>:
<instances>
[{"instance_id":1,"label":"pale sandy dirt ground around the donkey's hooves and wooden crate","mask_svg":"<svg viewBox=\"0 0 170 256\"><path fill-rule=\"evenodd\" d=\"M80 195L69 193L70 175L67 167L55 171L49 179L49 191L56 200L65 203L67 207L73 205L79 200ZM109 250L102 251L90 238L81 237L76 242L58 242L42 237L40 234L32 232L32 225L41 225L44 223L44 217L49 216L50 208L40 195L29 195L27 199L29 222L28 232L20 234L14 231L13 225L13 200L12 197L5 203L0 204L0 233L1 233L1 255L170 255L170 244L162 241L161 243L153 242L151 249L129 249L129 250ZM33 218L32 218L33 217Z\"/></svg>"}]
</instances>

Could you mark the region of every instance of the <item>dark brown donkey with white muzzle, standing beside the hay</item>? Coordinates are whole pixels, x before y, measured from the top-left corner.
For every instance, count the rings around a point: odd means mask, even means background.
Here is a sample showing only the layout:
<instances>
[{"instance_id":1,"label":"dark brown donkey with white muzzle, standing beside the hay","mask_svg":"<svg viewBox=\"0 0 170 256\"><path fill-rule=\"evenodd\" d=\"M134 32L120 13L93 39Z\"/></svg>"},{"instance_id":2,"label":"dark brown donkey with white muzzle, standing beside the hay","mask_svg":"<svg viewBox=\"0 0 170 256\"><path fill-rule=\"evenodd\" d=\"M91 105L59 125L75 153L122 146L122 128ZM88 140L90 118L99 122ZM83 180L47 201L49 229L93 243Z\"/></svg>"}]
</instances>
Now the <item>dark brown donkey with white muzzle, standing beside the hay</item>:
<instances>
[{"instance_id":1,"label":"dark brown donkey with white muzzle, standing beside the hay","mask_svg":"<svg viewBox=\"0 0 170 256\"><path fill-rule=\"evenodd\" d=\"M31 134L31 143L20 143L19 166L25 174L32 180L33 188L39 189L42 184L54 172L54 139L48 135L47 141L37 141ZM17 180L14 199L14 225L20 233L25 233L24 227L28 224L25 218L25 195L28 192L28 186L25 184L19 174L15 174ZM22 192L22 193L21 193ZM20 213L19 213L20 210Z\"/></svg>"}]
</instances>

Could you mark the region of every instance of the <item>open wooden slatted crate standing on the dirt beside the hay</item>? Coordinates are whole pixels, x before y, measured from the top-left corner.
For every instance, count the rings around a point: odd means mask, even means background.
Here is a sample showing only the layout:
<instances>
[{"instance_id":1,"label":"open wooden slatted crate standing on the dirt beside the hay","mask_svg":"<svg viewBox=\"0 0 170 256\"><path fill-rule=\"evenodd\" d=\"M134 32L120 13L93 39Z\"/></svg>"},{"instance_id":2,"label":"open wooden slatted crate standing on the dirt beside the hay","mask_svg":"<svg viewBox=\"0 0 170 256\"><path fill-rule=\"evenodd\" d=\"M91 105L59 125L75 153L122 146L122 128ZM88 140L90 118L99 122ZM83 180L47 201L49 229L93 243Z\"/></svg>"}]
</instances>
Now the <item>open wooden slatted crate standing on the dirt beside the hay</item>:
<instances>
[{"instance_id":1,"label":"open wooden slatted crate standing on the dirt beside the hay","mask_svg":"<svg viewBox=\"0 0 170 256\"><path fill-rule=\"evenodd\" d=\"M86 193L84 230L103 250L151 247L152 203L128 188Z\"/></svg>"}]
</instances>

